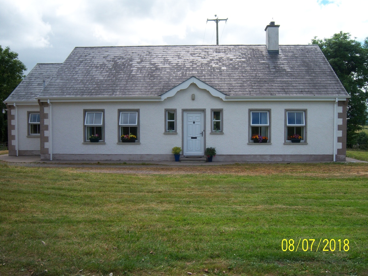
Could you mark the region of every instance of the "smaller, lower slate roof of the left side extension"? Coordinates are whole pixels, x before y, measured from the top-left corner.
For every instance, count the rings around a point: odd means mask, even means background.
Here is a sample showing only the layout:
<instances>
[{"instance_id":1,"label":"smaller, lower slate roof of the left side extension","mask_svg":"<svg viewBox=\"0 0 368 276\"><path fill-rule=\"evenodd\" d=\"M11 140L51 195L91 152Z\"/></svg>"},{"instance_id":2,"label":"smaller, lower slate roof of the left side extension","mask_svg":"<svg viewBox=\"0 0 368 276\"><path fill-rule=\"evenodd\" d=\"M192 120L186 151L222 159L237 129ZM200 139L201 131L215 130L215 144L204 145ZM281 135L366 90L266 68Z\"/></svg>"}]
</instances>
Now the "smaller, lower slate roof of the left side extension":
<instances>
[{"instance_id":1,"label":"smaller, lower slate roof of the left side extension","mask_svg":"<svg viewBox=\"0 0 368 276\"><path fill-rule=\"evenodd\" d=\"M36 64L4 102L36 101L36 97L43 89L43 81L47 85L60 66L61 63Z\"/></svg>"}]
</instances>

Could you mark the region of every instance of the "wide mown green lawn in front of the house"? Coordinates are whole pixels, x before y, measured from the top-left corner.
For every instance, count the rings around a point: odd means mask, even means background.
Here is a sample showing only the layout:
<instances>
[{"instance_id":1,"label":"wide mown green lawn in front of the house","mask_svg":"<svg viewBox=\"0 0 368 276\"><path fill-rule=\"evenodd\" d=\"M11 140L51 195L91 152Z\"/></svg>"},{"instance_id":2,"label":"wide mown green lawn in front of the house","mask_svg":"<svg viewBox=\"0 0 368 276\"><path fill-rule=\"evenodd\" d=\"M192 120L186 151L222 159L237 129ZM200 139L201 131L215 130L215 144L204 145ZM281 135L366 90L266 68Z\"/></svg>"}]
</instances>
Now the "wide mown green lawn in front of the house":
<instances>
[{"instance_id":1,"label":"wide mown green lawn in front of the house","mask_svg":"<svg viewBox=\"0 0 368 276\"><path fill-rule=\"evenodd\" d=\"M0 275L368 275L367 164L131 167L0 163Z\"/></svg>"}]
</instances>

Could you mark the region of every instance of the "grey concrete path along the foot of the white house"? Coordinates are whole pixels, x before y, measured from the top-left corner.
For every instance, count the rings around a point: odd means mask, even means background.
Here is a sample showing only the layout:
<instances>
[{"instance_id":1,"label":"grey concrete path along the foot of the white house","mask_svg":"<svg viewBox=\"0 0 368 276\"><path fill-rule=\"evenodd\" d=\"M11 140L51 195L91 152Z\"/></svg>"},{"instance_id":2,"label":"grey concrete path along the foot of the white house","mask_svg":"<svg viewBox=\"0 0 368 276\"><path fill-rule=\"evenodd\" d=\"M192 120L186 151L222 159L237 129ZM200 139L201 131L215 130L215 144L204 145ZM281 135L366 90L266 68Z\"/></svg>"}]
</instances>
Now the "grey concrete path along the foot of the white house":
<instances>
[{"instance_id":1,"label":"grey concrete path along the foot of the white house","mask_svg":"<svg viewBox=\"0 0 368 276\"><path fill-rule=\"evenodd\" d=\"M213 161L213 162L206 162L206 163L181 163L175 161L91 161L91 160L53 160L53 161L41 161L40 156L8 156L7 154L0 155L0 161L6 162L18 162L18 163L146 163L146 164L160 164L160 165L176 165L176 166L214 166L214 165L227 165L227 164L234 164L234 163L251 163L251 162L221 162L221 161ZM361 161L353 158L346 158L346 162L355 162L355 163L368 163L367 161ZM262 162L264 163L264 162ZM280 162L281 163L281 162ZM284 162L283 162L284 163ZM299 162L298 162L299 163Z\"/></svg>"}]
</instances>

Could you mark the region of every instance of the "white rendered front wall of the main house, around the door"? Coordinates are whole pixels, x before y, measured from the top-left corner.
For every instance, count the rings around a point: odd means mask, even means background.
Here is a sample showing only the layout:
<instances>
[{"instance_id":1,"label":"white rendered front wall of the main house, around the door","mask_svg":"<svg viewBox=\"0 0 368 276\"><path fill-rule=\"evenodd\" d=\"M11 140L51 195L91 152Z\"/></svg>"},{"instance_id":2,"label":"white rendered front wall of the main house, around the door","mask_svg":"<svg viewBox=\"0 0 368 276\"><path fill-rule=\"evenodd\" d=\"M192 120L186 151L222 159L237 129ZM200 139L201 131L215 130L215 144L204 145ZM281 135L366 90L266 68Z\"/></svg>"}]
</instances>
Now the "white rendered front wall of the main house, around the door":
<instances>
[{"instance_id":1,"label":"white rendered front wall of the main house, around the door","mask_svg":"<svg viewBox=\"0 0 368 276\"><path fill-rule=\"evenodd\" d=\"M195 94L195 100L192 100ZM343 111L339 106L338 112ZM84 143L85 109L104 109L105 141ZM118 110L139 109L140 143L118 143ZM164 133L164 109L177 109L177 134ZM182 110L205 110L205 147L216 148L216 160L332 161L334 102L332 101L223 101L190 85L163 102L52 102L53 159L173 160L171 148L182 144ZM210 134L211 109L223 109L223 134ZM270 110L270 143L249 143L249 109ZM307 143L285 143L285 109L307 110ZM49 107L45 107L47 113ZM50 118L50 116L46 116ZM47 121L47 122L46 122ZM49 124L49 119L45 120ZM337 124L343 124L339 118ZM339 130L337 136L342 136ZM49 136L50 131L45 131ZM45 138L46 139L46 138ZM50 142L45 142L45 148ZM343 142L337 143L341 149ZM341 151L340 151L341 152ZM45 156L47 158L47 156Z\"/></svg>"}]
</instances>

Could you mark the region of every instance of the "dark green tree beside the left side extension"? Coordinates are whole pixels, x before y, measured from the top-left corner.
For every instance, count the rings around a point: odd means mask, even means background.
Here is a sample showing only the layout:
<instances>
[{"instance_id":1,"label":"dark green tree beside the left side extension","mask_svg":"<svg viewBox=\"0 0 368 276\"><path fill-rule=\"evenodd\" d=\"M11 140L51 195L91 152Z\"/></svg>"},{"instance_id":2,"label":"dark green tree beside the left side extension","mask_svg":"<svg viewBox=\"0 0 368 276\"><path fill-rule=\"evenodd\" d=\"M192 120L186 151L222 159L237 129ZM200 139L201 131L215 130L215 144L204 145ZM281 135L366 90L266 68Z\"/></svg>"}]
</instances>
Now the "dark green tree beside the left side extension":
<instances>
[{"instance_id":1,"label":"dark green tree beside the left side extension","mask_svg":"<svg viewBox=\"0 0 368 276\"><path fill-rule=\"evenodd\" d=\"M12 52L9 47L3 49L0 45L0 142L8 140L7 121L3 109L3 101L24 78L25 65L18 60L18 54Z\"/></svg>"}]
</instances>

